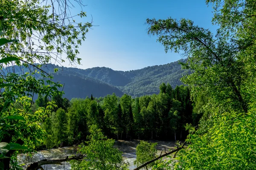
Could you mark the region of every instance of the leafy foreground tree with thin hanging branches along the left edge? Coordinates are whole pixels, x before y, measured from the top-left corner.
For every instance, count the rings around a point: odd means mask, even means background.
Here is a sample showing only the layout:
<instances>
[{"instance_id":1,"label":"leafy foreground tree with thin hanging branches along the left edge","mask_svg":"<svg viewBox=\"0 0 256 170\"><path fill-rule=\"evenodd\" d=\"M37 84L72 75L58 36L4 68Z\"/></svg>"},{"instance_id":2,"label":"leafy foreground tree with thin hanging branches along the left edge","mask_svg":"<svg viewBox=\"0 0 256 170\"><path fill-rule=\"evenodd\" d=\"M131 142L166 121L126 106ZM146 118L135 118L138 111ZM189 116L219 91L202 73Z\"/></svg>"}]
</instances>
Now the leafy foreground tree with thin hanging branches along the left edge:
<instances>
[{"instance_id":1,"label":"leafy foreground tree with thin hanging branches along the left edge","mask_svg":"<svg viewBox=\"0 0 256 170\"><path fill-rule=\"evenodd\" d=\"M8 144L15 142L17 146L17 139L21 136L23 136L20 139L22 142L19 143L27 146L28 152L33 151L35 145L42 141L44 131L39 124L52 109L53 103L49 104L49 107L38 108L37 112L31 114L29 111L32 105L31 98L34 94L54 96L61 85L52 82L52 77L41 69L41 65L51 60L64 62L63 55L71 63L80 63L81 59L76 57L79 52L77 48L81 45L81 40L85 39L88 28L91 27L90 23L82 25L73 22L75 16L66 12L70 5L67 1L61 0L50 5L47 1L39 0L1 1L0 106L3 109L0 113L0 142L5 142L4 147L7 150L22 148L11 147L12 143ZM59 10L54 10L55 8ZM86 15L81 12L77 16ZM15 111L13 107L15 102L21 102L23 109ZM11 117L6 118L5 112ZM3 156L5 154L2 153L1 157ZM9 169L9 158L1 159L0 162L4 162L0 164L1 168Z\"/></svg>"}]
</instances>

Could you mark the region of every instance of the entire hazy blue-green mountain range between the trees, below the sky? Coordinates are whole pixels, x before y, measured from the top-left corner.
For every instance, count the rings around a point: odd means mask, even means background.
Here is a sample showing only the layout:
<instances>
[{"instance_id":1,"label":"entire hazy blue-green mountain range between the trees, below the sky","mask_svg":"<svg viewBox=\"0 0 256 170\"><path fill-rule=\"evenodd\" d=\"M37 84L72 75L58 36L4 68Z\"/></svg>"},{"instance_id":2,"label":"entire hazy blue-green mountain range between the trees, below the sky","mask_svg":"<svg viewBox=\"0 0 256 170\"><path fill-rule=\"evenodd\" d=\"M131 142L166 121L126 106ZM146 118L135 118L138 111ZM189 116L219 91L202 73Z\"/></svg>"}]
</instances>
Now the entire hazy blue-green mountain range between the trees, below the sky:
<instances>
[{"instance_id":1,"label":"entire hazy blue-green mountain range between the trees, below the sky","mask_svg":"<svg viewBox=\"0 0 256 170\"><path fill-rule=\"evenodd\" d=\"M169 83L172 88L182 85L180 78L187 74L187 71L181 70L179 62L185 62L185 60L181 59L165 65L154 65L132 71L114 71L106 67L67 68L54 64L44 65L42 69L53 75L53 81L64 84L64 97L68 99L85 98L91 94L95 97L103 97L113 93L117 96L122 96L124 93L131 96L142 96L158 94L159 85L163 82ZM59 71L54 73L54 68L59 68ZM27 71L21 68L15 68L15 70L16 73Z\"/></svg>"}]
</instances>

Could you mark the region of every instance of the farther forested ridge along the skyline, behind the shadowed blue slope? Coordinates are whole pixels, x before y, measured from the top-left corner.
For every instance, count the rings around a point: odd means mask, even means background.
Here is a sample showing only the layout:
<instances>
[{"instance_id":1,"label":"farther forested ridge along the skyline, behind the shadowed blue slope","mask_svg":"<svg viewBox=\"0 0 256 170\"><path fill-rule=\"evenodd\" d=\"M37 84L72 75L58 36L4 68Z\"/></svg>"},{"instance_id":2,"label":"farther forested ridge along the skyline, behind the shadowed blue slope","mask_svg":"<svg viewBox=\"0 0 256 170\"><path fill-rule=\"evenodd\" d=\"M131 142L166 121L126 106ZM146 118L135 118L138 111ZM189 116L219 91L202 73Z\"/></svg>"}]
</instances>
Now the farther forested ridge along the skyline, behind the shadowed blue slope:
<instances>
[{"instance_id":1,"label":"farther forested ridge along the skyline, behind the shadowed blue slope","mask_svg":"<svg viewBox=\"0 0 256 170\"><path fill-rule=\"evenodd\" d=\"M132 71L114 71L111 68L95 67L88 69L58 67L58 65L47 65L45 71L54 73L54 68L59 68L58 75L76 75L77 77L90 79L98 83L116 86L122 93L131 96L143 96L145 94L158 94L159 86L163 82L169 83L172 88L176 85L182 85L180 78L186 74L186 70L181 69L179 62L185 62L185 59L180 59L176 62L171 62L165 65L154 65L146 68ZM61 82L65 84L65 80ZM65 87L65 92L70 91L70 88ZM96 94L97 93L97 94ZM116 93L113 91L113 93ZM93 96L105 96L92 91ZM112 94L112 93L109 93ZM117 96L122 96L121 93L116 93Z\"/></svg>"}]
</instances>

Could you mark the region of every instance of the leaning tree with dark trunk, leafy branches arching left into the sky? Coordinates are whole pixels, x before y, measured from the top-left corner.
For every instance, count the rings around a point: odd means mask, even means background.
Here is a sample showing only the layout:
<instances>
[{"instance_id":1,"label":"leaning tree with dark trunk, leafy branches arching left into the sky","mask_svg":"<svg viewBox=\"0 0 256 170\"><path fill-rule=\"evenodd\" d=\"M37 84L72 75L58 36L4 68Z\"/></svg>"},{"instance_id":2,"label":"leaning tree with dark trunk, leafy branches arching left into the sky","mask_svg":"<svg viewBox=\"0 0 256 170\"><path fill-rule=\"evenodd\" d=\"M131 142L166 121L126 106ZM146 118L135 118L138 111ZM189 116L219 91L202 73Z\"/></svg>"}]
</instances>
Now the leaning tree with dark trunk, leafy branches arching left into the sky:
<instances>
[{"instance_id":1,"label":"leaning tree with dark trunk, leafy branches arching left into the sky","mask_svg":"<svg viewBox=\"0 0 256 170\"><path fill-rule=\"evenodd\" d=\"M247 103L241 95L246 72L244 63L236 59L240 51L236 44L221 35L215 40L209 30L194 26L191 20L148 19L147 23L150 25L148 34L158 35L166 52L183 50L188 56L183 68L191 69L192 74L182 80L193 85L192 96L199 90L204 91L205 95L214 96L216 102L231 100L226 104L247 111Z\"/></svg>"}]
</instances>

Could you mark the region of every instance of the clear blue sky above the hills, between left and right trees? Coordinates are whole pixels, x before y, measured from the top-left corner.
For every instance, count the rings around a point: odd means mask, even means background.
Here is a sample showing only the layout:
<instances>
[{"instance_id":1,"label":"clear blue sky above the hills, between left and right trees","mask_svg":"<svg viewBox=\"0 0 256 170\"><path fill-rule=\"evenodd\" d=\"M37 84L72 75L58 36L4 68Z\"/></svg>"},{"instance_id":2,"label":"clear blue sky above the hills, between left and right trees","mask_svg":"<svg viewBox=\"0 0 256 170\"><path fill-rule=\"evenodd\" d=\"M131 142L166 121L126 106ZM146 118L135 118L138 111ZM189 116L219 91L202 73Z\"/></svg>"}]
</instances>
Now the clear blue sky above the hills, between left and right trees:
<instances>
[{"instance_id":1,"label":"clear blue sky above the hills, between left and right trees","mask_svg":"<svg viewBox=\"0 0 256 170\"><path fill-rule=\"evenodd\" d=\"M135 70L163 65L182 58L181 54L165 53L157 37L148 36L147 18L193 20L198 26L212 26L212 8L205 0L82 0L87 12L85 21L93 17L93 29L79 48L82 61L78 68L108 67L113 70ZM81 11L73 8L74 14ZM92 16L92 17L91 17ZM70 67L67 63L64 66Z\"/></svg>"}]
</instances>

